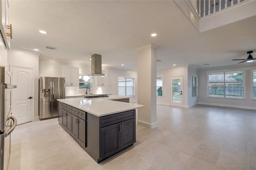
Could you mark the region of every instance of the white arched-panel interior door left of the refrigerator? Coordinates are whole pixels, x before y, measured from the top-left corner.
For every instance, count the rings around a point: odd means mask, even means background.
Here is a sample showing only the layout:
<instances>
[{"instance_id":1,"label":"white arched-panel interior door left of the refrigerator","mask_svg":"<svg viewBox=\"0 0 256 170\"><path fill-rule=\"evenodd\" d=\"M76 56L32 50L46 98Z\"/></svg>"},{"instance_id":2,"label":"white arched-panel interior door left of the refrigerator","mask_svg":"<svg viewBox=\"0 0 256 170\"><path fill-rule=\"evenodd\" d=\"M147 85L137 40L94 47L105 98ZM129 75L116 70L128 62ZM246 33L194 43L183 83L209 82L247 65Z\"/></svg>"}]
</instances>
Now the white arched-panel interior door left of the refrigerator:
<instances>
[{"instance_id":1,"label":"white arched-panel interior door left of the refrigerator","mask_svg":"<svg viewBox=\"0 0 256 170\"><path fill-rule=\"evenodd\" d=\"M17 124L32 121L33 115L33 69L11 66L12 84L17 88L12 89L12 115L17 119Z\"/></svg>"}]
</instances>

